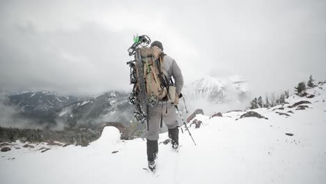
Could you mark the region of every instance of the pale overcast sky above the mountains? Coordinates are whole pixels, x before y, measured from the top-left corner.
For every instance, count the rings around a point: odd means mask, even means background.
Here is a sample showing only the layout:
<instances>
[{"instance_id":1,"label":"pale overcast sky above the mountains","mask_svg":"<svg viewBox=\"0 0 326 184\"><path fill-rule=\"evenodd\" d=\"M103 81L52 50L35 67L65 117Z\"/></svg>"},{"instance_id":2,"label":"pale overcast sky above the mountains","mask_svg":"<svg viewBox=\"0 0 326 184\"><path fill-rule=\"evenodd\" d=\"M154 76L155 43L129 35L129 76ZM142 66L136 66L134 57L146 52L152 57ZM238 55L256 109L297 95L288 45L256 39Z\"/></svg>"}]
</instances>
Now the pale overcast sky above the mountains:
<instances>
[{"instance_id":1,"label":"pale overcast sky above the mountains","mask_svg":"<svg viewBox=\"0 0 326 184\"><path fill-rule=\"evenodd\" d=\"M326 79L326 1L0 1L0 89L129 89L127 48L160 40L185 82L242 75L255 94Z\"/></svg>"}]
</instances>

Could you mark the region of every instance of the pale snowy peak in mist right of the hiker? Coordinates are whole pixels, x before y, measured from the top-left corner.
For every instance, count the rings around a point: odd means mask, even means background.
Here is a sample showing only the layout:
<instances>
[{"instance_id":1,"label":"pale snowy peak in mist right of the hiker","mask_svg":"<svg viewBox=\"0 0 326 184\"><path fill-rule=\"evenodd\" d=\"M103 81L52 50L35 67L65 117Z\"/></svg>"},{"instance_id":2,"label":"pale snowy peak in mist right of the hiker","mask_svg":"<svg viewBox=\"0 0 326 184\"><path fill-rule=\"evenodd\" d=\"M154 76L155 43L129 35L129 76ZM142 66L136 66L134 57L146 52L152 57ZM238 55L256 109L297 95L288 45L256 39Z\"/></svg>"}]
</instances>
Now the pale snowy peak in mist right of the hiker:
<instances>
[{"instance_id":1,"label":"pale snowy peak in mist right of the hiker","mask_svg":"<svg viewBox=\"0 0 326 184\"><path fill-rule=\"evenodd\" d=\"M216 104L242 102L248 92L247 82L240 76L223 79L206 76L191 82L183 90L189 100L207 100Z\"/></svg>"}]
</instances>

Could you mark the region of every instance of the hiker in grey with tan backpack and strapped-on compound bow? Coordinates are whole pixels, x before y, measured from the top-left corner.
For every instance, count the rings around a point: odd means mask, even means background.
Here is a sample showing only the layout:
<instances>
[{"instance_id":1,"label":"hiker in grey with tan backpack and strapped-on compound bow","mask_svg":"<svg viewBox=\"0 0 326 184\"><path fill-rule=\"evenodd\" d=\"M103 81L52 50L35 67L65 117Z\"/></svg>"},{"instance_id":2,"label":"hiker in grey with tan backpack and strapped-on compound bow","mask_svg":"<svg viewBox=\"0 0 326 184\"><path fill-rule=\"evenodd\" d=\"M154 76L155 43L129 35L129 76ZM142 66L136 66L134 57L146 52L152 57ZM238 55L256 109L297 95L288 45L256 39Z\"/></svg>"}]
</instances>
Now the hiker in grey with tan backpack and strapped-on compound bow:
<instances>
[{"instance_id":1,"label":"hiker in grey with tan backpack and strapped-on compound bow","mask_svg":"<svg viewBox=\"0 0 326 184\"><path fill-rule=\"evenodd\" d=\"M150 47L148 36L134 37L128 49L134 60L130 66L130 83L134 84L130 102L135 107L134 116L146 123L148 168L155 171L160 128L164 122L169 129L171 147L178 151L179 130L178 100L183 89L183 75L176 61L166 54L162 43L154 41ZM174 82L173 82L174 79Z\"/></svg>"}]
</instances>

